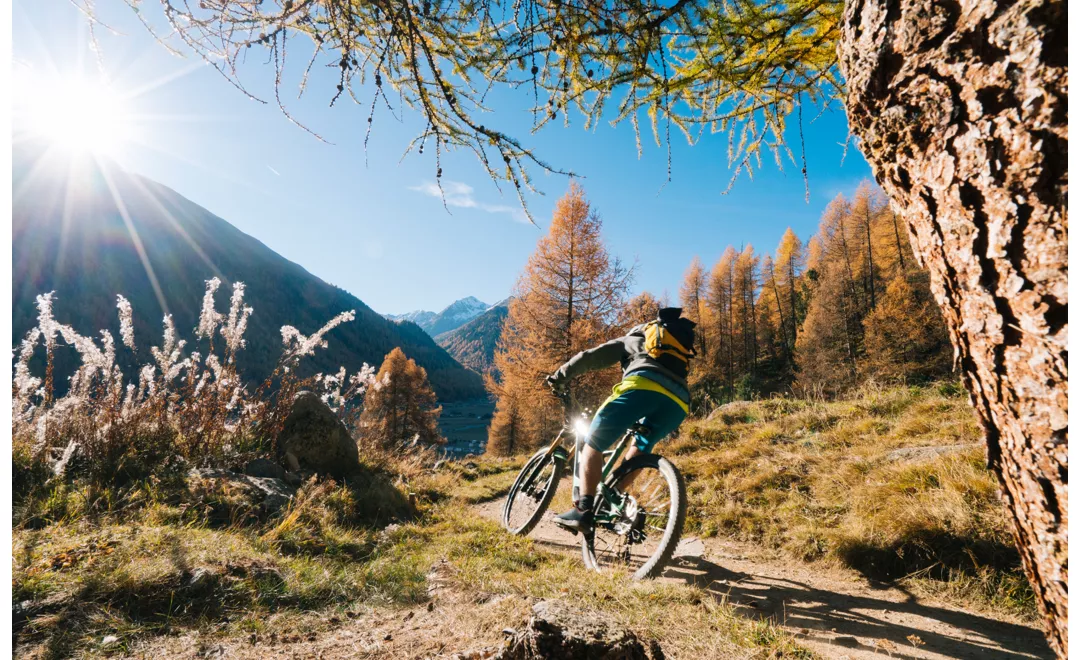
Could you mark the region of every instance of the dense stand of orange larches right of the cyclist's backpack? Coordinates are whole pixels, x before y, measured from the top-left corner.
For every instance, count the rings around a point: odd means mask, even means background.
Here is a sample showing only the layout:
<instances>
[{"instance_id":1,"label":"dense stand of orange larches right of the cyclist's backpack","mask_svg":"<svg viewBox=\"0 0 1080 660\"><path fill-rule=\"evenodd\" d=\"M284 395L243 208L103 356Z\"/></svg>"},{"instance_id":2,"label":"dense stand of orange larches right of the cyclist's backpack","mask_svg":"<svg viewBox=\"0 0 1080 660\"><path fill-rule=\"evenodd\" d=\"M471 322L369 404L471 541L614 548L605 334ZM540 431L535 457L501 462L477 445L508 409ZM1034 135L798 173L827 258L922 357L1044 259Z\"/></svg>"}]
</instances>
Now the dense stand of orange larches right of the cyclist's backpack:
<instances>
[{"instance_id":1,"label":"dense stand of orange larches right of the cyclist's backpack","mask_svg":"<svg viewBox=\"0 0 1080 660\"><path fill-rule=\"evenodd\" d=\"M835 395L865 381L948 374L951 350L900 218L864 183L828 205L807 244L753 245L691 262L679 295L699 323L699 403L772 392Z\"/></svg>"}]
</instances>

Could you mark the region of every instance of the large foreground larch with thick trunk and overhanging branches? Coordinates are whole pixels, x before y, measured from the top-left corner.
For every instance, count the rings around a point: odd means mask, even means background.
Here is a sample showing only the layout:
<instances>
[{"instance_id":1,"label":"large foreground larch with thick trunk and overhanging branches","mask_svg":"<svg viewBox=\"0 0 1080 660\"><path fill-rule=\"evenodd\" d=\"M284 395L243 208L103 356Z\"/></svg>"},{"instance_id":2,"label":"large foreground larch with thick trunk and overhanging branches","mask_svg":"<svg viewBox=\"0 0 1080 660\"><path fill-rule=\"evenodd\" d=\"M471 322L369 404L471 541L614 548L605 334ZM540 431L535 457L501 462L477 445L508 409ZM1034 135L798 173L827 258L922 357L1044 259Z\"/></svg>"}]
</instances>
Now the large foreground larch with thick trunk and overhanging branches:
<instances>
[{"instance_id":1,"label":"large foreground larch with thick trunk and overhanging branches","mask_svg":"<svg viewBox=\"0 0 1080 660\"><path fill-rule=\"evenodd\" d=\"M122 1L160 27L146 2ZM94 3L77 3L93 19ZM301 91L312 66L337 67L330 103L367 108L369 127L377 108L394 112L396 103L420 113L408 148L434 151L436 180L442 154L465 149L523 203L527 167L555 167L485 123L492 86L528 95L537 129L569 123L576 108L586 129L613 118L637 134L644 115L669 161L673 127L691 143L706 129L725 132L733 177L762 150L806 176L805 154L784 142L788 122L801 126L805 106L842 96L930 270L1050 642L1067 655L1067 3L160 3L162 40L194 51L242 93L252 95L240 71L254 48L272 64L273 103L288 113L286 63L302 53Z\"/></svg>"}]
</instances>

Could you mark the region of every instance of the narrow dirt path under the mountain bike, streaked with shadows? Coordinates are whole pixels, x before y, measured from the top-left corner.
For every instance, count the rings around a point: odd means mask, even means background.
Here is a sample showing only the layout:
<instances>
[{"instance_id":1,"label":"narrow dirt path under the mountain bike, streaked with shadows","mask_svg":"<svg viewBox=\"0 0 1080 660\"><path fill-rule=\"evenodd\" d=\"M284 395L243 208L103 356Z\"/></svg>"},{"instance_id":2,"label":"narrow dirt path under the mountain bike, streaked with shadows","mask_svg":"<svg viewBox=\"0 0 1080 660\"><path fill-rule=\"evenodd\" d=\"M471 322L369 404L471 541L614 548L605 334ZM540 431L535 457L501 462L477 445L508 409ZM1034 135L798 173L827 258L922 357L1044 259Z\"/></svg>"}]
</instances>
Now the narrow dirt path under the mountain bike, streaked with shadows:
<instances>
[{"instance_id":1,"label":"narrow dirt path under the mountain bike, streaked with shadows","mask_svg":"<svg viewBox=\"0 0 1080 660\"><path fill-rule=\"evenodd\" d=\"M501 508L501 499L476 507L494 520ZM577 537L548 520L529 537L580 556ZM747 617L771 618L826 658L1053 658L1042 631L1030 624L918 598L853 571L720 539L688 539L676 555L661 579L700 585Z\"/></svg>"}]
</instances>

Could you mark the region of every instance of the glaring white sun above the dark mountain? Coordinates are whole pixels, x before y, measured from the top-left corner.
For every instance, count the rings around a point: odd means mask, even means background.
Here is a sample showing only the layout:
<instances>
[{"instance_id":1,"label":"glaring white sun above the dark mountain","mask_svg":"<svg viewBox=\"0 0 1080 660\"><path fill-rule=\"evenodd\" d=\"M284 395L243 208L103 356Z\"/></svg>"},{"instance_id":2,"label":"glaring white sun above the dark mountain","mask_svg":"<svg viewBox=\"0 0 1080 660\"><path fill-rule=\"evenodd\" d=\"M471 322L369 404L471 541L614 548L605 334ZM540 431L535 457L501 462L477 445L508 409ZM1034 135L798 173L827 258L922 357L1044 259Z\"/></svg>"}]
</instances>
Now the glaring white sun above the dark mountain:
<instances>
[{"instance_id":1,"label":"glaring white sun above the dark mountain","mask_svg":"<svg viewBox=\"0 0 1080 660\"><path fill-rule=\"evenodd\" d=\"M24 78L14 98L16 125L75 152L116 154L132 139L123 94L89 76Z\"/></svg>"}]
</instances>

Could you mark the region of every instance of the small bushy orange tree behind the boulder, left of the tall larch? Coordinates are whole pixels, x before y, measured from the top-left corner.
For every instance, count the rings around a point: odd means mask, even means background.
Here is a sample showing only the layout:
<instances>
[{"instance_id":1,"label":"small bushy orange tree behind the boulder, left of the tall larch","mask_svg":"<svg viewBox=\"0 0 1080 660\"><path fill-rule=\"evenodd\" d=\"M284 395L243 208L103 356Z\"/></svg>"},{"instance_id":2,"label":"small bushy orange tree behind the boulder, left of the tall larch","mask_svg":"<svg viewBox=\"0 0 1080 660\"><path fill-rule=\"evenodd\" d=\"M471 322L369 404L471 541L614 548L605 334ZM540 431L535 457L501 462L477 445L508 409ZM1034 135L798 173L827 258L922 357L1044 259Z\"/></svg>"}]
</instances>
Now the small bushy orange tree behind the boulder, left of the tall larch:
<instances>
[{"instance_id":1,"label":"small bushy orange tree behind the boulder, left of the tall larch","mask_svg":"<svg viewBox=\"0 0 1080 660\"><path fill-rule=\"evenodd\" d=\"M367 393L360 417L365 440L388 449L443 442L438 434L442 407L422 366L394 348L382 361L376 382L381 385Z\"/></svg>"}]
</instances>

